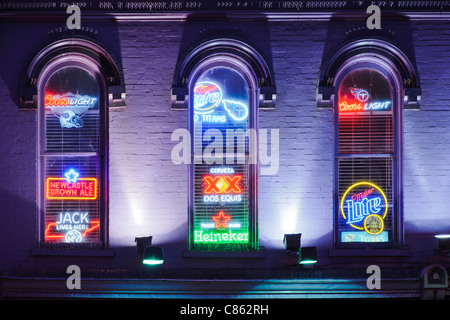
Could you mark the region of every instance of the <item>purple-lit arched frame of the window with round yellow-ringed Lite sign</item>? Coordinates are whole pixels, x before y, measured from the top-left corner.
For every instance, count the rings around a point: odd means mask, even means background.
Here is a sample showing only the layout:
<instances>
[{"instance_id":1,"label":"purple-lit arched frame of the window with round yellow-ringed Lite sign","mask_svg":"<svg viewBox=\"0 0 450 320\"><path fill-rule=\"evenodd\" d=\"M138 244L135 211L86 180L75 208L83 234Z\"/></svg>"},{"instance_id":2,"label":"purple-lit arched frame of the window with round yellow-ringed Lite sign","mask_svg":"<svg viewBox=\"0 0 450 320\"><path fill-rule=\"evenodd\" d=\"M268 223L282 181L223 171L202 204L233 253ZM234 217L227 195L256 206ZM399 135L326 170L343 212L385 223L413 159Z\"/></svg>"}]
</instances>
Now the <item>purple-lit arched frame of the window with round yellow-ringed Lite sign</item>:
<instances>
[{"instance_id":1,"label":"purple-lit arched frame of the window with round yellow-ringed Lite sign","mask_svg":"<svg viewBox=\"0 0 450 320\"><path fill-rule=\"evenodd\" d=\"M378 154L339 154L339 89L343 80L351 72L358 69L371 69L382 74L388 81L392 90L392 130L393 153ZM336 249L394 249L402 247L404 243L403 232L403 107L404 90L400 75L396 68L386 59L375 54L360 54L344 62L336 73L334 80L333 101L333 247ZM340 241L338 219L340 214L339 199L339 159L343 158L392 158L392 239L386 243L342 243Z\"/></svg>"}]
</instances>

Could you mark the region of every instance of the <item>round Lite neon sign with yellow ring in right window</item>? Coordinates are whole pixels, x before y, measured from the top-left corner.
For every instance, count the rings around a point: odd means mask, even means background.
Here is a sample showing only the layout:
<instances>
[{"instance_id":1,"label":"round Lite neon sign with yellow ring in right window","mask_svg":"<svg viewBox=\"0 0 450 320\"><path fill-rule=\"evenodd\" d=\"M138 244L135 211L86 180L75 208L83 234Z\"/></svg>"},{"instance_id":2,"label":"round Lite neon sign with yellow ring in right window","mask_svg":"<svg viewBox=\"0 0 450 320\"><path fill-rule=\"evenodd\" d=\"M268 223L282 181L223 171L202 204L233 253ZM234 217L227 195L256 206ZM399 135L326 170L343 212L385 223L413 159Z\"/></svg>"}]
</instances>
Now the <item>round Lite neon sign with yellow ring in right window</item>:
<instances>
[{"instance_id":1,"label":"round Lite neon sign with yellow ring in right window","mask_svg":"<svg viewBox=\"0 0 450 320\"><path fill-rule=\"evenodd\" d=\"M347 225L377 235L384 229L388 202L383 190L377 185L358 182L342 196L340 210Z\"/></svg>"}]
</instances>

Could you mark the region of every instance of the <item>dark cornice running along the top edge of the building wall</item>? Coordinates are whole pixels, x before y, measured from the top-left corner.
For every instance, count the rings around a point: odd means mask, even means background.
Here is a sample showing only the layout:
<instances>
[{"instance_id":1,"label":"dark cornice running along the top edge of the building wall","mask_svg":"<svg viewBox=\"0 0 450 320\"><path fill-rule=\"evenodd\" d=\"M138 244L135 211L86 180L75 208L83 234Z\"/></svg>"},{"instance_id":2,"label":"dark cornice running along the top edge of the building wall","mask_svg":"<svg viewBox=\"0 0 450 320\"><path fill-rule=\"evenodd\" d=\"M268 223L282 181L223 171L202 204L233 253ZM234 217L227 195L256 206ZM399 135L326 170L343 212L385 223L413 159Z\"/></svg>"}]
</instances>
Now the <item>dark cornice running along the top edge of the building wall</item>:
<instances>
[{"instance_id":1,"label":"dark cornice running along the top edge of the building wall","mask_svg":"<svg viewBox=\"0 0 450 320\"><path fill-rule=\"evenodd\" d=\"M49 16L67 17L71 2L6 1L0 3L2 19L33 19ZM83 19L119 21L185 20L188 16L221 14L238 19L265 17L268 20L318 20L333 18L367 17L366 9L372 4L380 7L383 18L390 15L408 19L450 19L450 0L446 1L371 1L371 0L156 0L156 1L77 1ZM54 16L54 17L55 17Z\"/></svg>"}]
</instances>

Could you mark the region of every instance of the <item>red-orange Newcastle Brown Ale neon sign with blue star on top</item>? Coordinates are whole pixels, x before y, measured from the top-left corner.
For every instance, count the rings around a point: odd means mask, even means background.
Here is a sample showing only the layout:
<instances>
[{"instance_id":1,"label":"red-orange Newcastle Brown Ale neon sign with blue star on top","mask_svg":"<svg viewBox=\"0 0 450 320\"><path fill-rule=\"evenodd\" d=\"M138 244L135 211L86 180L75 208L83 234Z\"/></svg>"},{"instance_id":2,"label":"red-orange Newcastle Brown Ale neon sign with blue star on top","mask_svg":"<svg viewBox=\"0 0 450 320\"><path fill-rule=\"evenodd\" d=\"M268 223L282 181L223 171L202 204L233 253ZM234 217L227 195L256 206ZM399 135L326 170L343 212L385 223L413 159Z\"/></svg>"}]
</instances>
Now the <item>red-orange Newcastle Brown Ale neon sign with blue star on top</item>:
<instances>
[{"instance_id":1,"label":"red-orange Newcastle Brown Ale neon sign with blue star on top","mask_svg":"<svg viewBox=\"0 0 450 320\"><path fill-rule=\"evenodd\" d=\"M80 174L70 169L65 178L47 178L47 199L95 200L97 199L97 179L79 178Z\"/></svg>"}]
</instances>

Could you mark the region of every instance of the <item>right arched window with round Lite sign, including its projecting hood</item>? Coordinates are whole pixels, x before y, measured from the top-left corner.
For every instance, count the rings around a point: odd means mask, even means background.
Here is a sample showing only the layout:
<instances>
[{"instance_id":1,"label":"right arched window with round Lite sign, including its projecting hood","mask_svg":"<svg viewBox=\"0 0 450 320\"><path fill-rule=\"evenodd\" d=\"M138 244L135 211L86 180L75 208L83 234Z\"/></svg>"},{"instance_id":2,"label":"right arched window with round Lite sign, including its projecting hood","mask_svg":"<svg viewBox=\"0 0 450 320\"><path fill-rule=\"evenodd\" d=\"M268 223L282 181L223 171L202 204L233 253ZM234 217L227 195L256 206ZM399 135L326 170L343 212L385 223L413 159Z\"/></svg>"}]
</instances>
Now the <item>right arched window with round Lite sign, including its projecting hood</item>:
<instances>
[{"instance_id":1,"label":"right arched window with round Lite sign, including its projecting hood","mask_svg":"<svg viewBox=\"0 0 450 320\"><path fill-rule=\"evenodd\" d=\"M320 72L334 115L334 247L400 248L403 112L420 107L412 59L384 38L349 41Z\"/></svg>"}]
</instances>

